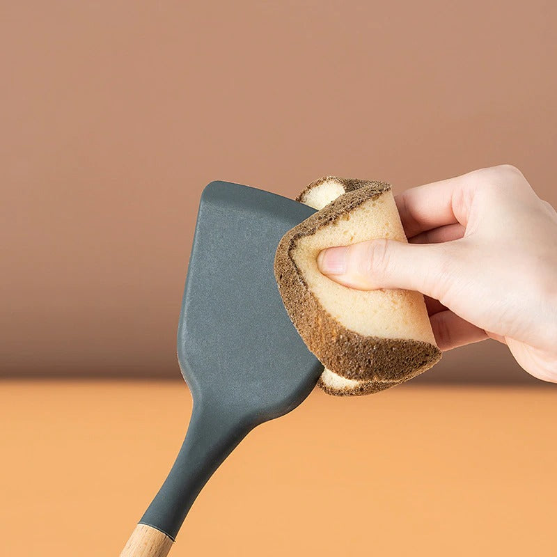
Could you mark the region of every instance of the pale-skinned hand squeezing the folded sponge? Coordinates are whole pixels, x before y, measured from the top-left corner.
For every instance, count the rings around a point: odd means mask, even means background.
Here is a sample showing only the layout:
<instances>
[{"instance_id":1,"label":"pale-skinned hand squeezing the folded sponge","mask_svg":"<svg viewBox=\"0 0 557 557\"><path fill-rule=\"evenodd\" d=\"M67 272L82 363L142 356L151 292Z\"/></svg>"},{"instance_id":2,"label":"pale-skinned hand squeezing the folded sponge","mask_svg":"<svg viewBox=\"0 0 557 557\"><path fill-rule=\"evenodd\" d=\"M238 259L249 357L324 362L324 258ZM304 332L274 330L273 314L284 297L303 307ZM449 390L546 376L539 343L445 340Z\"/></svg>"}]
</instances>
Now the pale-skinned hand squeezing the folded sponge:
<instances>
[{"instance_id":1,"label":"pale-skinned hand squeezing the folded sponge","mask_svg":"<svg viewBox=\"0 0 557 557\"><path fill-rule=\"evenodd\" d=\"M494 338L557 383L557 212L510 165L408 189L395 198L409 244L324 250L323 274L360 290L425 295L443 351Z\"/></svg>"}]
</instances>

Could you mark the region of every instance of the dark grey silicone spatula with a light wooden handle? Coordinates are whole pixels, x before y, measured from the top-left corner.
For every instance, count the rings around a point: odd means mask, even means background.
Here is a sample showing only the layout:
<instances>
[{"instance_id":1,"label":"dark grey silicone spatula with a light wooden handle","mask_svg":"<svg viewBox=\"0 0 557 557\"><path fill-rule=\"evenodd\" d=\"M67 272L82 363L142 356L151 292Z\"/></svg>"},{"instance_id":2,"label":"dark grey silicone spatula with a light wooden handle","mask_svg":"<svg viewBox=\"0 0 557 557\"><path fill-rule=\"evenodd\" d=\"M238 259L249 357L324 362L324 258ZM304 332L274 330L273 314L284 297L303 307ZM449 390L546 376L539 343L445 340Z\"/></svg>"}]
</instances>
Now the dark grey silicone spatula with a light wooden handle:
<instances>
[{"instance_id":1,"label":"dark grey silicone spatula with a light wooden handle","mask_svg":"<svg viewBox=\"0 0 557 557\"><path fill-rule=\"evenodd\" d=\"M295 409L322 370L273 274L281 237L315 210L228 182L201 195L178 361L194 400L187 435L120 557L168 554L203 485L253 427Z\"/></svg>"}]
</instances>

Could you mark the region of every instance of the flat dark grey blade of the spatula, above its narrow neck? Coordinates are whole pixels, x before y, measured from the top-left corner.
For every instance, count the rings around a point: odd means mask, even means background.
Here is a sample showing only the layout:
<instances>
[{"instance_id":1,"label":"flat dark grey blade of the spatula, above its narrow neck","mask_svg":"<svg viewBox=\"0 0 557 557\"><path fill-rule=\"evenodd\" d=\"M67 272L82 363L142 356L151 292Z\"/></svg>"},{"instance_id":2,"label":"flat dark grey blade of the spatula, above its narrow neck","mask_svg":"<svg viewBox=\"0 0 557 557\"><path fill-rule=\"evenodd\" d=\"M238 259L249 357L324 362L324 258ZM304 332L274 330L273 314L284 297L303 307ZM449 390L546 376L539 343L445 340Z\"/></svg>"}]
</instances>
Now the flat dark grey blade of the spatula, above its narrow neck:
<instances>
[{"instance_id":1,"label":"flat dark grey blade of the spatula, above its narrow neck","mask_svg":"<svg viewBox=\"0 0 557 557\"><path fill-rule=\"evenodd\" d=\"M282 235L313 212L237 184L203 191L178 329L194 399L235 405L261 423L297 406L315 384L315 356L292 326L273 272Z\"/></svg>"}]
</instances>

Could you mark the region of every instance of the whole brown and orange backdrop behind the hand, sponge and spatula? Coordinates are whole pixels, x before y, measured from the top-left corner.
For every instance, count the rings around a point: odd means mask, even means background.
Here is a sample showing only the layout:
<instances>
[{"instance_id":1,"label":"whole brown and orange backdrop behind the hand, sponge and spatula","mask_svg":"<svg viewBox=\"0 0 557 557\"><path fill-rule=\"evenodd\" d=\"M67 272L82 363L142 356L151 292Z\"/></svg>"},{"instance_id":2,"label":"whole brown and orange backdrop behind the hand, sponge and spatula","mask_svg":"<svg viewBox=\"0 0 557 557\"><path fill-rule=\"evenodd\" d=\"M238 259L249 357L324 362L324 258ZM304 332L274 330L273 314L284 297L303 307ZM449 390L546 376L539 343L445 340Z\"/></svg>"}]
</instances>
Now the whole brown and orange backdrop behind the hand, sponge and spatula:
<instances>
[{"instance_id":1,"label":"whole brown and orange backdrop behind the hand, sponge and spatula","mask_svg":"<svg viewBox=\"0 0 557 557\"><path fill-rule=\"evenodd\" d=\"M207 182L402 191L508 162L556 205L556 22L540 0L3 2L6 554L118 554L159 487ZM173 554L553 554L555 393L494 342L374 398L315 392L238 448Z\"/></svg>"}]
</instances>

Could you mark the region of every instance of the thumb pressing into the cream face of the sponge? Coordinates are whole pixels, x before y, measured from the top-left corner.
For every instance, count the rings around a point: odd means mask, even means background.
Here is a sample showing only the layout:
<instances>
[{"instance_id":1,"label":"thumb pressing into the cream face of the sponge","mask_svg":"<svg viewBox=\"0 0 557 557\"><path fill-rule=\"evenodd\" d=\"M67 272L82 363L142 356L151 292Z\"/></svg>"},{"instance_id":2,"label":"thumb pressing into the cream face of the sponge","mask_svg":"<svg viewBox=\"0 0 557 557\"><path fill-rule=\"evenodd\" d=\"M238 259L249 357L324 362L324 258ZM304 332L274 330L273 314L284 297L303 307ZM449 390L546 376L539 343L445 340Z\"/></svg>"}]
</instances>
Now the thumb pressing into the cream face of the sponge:
<instances>
[{"instance_id":1,"label":"thumb pressing into the cream face of the sponge","mask_svg":"<svg viewBox=\"0 0 557 557\"><path fill-rule=\"evenodd\" d=\"M321 251L317 267L332 280L359 290L404 288L441 299L455 276L452 249L441 244L370 240Z\"/></svg>"}]
</instances>

